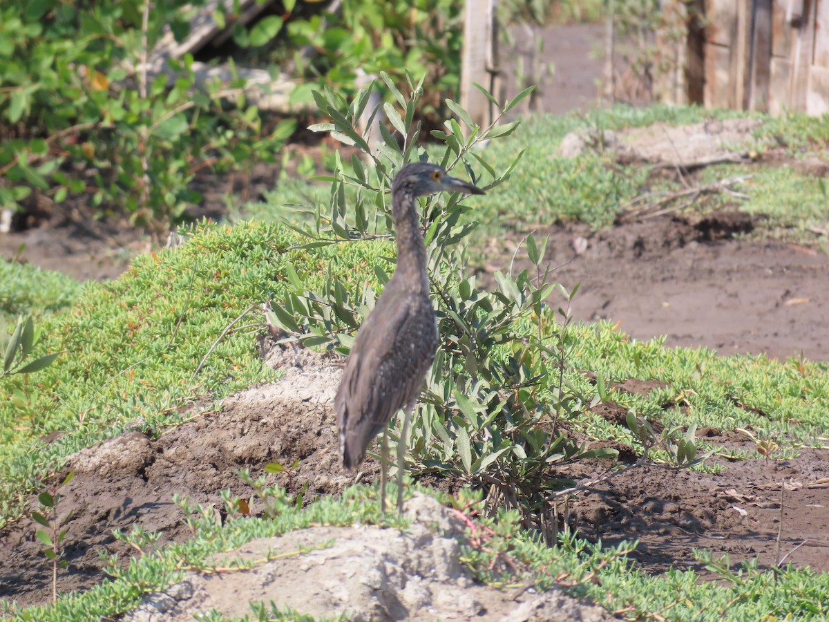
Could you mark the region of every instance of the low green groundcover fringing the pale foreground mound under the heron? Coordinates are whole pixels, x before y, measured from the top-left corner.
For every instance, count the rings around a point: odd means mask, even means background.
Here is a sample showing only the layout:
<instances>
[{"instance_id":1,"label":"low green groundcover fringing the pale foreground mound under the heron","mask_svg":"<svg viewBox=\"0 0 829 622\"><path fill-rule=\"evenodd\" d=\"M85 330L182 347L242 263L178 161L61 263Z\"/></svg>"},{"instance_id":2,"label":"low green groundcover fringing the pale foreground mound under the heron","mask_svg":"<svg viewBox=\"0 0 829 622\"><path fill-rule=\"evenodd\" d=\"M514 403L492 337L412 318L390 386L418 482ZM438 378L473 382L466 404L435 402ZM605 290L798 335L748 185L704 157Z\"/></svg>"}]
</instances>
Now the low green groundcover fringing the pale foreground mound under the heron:
<instances>
[{"instance_id":1,"label":"low green groundcover fringing the pale foreground mound under the heron","mask_svg":"<svg viewBox=\"0 0 829 622\"><path fill-rule=\"evenodd\" d=\"M438 494L417 485L410 488L432 496ZM17 611L13 619L63 622L116 615L138 605L143 594L164 590L180 581L185 570L211 572L214 566L211 554L232 550L253 538L278 536L320 524L384 524L376 498L376 493L365 487L347 488L342 498L321 498L307 508L296 508L289 498L281 498L280 513L273 520L237 518L222 527L216 526L209 508L187 508L195 529L190 542L148 552L123 570L110 563L110 581L80 594L62 596L53 607ZM444 503L449 501L439 498ZM466 511L480 508L480 494L462 496L455 503ZM699 582L693 571L646 576L626 557L635 542L606 548L564 537L559 546L547 547L521 529L515 511L502 511L497 518L476 520L480 532L491 532L492 536L477 545L465 542L461 547L462 558L479 580L495 585L520 583L541 590L555 584L569 585L565 590L570 594L594 600L628 620L660 615L669 620L754 622L771 619L764 616L783 620L791 612L797 612L800 620L821 620L829 614L829 576L817 576L807 569L789 566L778 571L760 571L750 563L730 568L725 560L712 560L698 553L701 561L720 576L720 582ZM405 523L396 518L385 524L405 529ZM137 547L146 547L151 535L133 532L118 537ZM325 546L320 542L321 548ZM505 560L518 571L511 569ZM259 604L251 606L254 612L261 610ZM253 620L308 620L297 612L283 613L285 617L274 614L274 617L256 616Z\"/></svg>"}]
</instances>

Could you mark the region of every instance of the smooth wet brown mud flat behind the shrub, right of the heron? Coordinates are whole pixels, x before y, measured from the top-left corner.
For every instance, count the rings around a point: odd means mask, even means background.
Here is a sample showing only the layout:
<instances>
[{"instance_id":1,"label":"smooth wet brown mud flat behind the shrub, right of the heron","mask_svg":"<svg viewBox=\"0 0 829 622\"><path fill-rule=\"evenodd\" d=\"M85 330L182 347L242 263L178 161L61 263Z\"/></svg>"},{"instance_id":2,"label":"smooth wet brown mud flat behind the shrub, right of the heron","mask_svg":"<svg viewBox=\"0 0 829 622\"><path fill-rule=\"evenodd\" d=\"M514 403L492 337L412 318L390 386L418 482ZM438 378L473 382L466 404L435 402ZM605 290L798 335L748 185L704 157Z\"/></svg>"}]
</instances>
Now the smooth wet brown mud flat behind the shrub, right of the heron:
<instances>
[{"instance_id":1,"label":"smooth wet brown mud flat behind the shrub, right of the heron","mask_svg":"<svg viewBox=\"0 0 829 622\"><path fill-rule=\"evenodd\" d=\"M619 322L638 339L666 335L668 347L829 359L829 255L739 239L753 227L751 216L725 211L597 232L554 226L535 235L550 235L545 259L559 266L550 278L567 289L582 284L571 304L576 319ZM504 257L520 239L504 244ZM535 270L521 255L513 273ZM494 286L494 279L483 274L482 284Z\"/></svg>"}]
</instances>

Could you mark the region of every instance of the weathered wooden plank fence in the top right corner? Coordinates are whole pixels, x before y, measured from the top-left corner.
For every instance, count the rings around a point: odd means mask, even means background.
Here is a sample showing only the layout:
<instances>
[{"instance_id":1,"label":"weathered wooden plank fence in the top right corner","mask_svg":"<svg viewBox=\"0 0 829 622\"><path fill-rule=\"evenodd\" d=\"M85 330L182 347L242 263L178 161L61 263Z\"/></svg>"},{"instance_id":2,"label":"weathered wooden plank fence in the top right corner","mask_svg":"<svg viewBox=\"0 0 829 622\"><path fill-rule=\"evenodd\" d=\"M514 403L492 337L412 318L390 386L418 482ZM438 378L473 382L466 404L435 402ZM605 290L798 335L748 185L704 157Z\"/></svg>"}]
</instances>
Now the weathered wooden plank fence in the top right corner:
<instances>
[{"instance_id":1,"label":"weathered wooden plank fence in the top right corner","mask_svg":"<svg viewBox=\"0 0 829 622\"><path fill-rule=\"evenodd\" d=\"M829 112L829 0L663 0L689 12L659 99L780 114ZM696 13L696 15L695 15ZM671 49L672 48L672 49Z\"/></svg>"}]
</instances>

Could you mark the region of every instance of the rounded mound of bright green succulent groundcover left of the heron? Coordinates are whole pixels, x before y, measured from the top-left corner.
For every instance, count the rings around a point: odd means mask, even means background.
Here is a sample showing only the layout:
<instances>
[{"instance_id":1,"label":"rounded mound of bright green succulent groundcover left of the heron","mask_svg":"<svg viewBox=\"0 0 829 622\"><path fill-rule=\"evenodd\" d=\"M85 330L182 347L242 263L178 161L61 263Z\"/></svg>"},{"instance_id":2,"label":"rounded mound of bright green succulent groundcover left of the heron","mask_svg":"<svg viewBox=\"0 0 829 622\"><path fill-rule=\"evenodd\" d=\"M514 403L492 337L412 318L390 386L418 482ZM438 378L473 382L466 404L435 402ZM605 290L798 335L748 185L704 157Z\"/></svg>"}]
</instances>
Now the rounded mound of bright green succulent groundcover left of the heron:
<instances>
[{"instance_id":1,"label":"rounded mound of bright green succulent groundcover left of the heron","mask_svg":"<svg viewBox=\"0 0 829 622\"><path fill-rule=\"evenodd\" d=\"M76 306L41 320L33 356L62 352L38 372L37 390L10 377L0 386L0 523L23 511L27 492L60 468L66 455L129 422L160 431L181 420L177 408L212 392L221 399L263 377L255 356L257 328L231 331L198 376L196 367L225 327L251 305L281 298L289 262L314 287L330 270L352 289L354 265L387 265L388 242L335 247L313 253L298 248L285 227L242 223L234 228L198 226L178 250L143 255L119 279L88 284ZM27 395L32 420L21 420L11 401ZM37 437L65 436L48 445Z\"/></svg>"}]
</instances>

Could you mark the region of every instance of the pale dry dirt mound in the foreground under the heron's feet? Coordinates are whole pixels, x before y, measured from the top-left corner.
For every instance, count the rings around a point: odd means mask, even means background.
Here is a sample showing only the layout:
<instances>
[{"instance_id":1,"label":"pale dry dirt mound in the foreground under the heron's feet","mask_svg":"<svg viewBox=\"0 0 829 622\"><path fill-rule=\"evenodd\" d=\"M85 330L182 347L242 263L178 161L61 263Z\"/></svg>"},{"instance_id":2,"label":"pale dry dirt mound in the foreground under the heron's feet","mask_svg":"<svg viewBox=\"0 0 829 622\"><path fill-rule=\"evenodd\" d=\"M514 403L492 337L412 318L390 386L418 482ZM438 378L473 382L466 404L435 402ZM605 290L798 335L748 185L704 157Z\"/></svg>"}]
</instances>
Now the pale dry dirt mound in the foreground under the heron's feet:
<instances>
[{"instance_id":1,"label":"pale dry dirt mound in the foreground under the heron's feet","mask_svg":"<svg viewBox=\"0 0 829 622\"><path fill-rule=\"evenodd\" d=\"M255 540L215 557L274 561L250 570L187 573L164 594L152 595L126 622L185 622L214 609L225 617L250 615L253 602L273 602L304 614L346 615L348 620L614 620L607 611L557 590L513 590L476 584L458 556L464 526L433 498L416 495L406 504L414 522L405 531L379 527L311 527L282 537ZM295 553L295 554L294 554Z\"/></svg>"}]
</instances>

